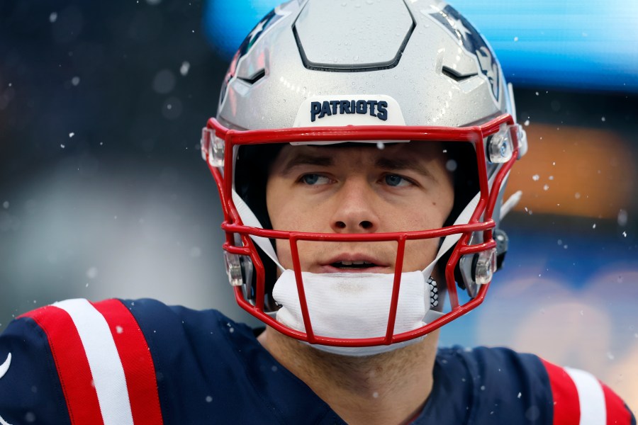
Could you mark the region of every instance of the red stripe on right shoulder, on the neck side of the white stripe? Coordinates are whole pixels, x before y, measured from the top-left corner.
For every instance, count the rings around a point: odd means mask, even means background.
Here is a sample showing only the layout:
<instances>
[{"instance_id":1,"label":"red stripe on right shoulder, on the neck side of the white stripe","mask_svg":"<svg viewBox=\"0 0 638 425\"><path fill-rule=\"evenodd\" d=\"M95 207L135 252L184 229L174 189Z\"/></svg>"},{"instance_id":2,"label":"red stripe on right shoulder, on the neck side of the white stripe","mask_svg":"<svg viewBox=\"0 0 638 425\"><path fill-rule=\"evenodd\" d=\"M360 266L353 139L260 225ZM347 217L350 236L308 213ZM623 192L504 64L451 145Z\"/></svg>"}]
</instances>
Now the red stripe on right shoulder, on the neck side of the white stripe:
<instances>
[{"instance_id":1,"label":"red stripe on right shoulder, on the neck side of the white stripe","mask_svg":"<svg viewBox=\"0 0 638 425\"><path fill-rule=\"evenodd\" d=\"M581 406L578 390L569 374L561 367L541 359L552 387L554 399L554 425L578 425L581 421Z\"/></svg>"}]
</instances>

